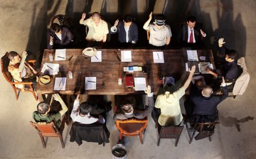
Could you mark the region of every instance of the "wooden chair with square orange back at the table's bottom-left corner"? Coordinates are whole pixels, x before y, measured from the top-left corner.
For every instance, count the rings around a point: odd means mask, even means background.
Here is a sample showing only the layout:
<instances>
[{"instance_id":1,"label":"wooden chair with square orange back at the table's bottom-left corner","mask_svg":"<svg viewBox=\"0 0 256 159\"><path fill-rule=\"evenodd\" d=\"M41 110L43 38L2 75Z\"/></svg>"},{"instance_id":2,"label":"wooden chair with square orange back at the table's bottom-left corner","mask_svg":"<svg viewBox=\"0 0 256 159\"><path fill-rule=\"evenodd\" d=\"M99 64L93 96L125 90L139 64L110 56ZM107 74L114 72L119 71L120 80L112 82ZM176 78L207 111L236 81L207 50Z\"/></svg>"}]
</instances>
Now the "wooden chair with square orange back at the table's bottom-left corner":
<instances>
[{"instance_id":1,"label":"wooden chair with square orange back at the table's bottom-left corner","mask_svg":"<svg viewBox=\"0 0 256 159\"><path fill-rule=\"evenodd\" d=\"M41 138L42 144L43 144L43 148L46 148L46 141L44 139L44 137L48 138L48 137L58 137L60 138L60 143L62 148L65 148L65 144L63 141L63 129L65 127L65 121L66 121L66 115L63 116L63 119L61 121L61 125L60 128L57 128L55 126L55 124L52 122L50 123L35 123L33 121L30 121L31 126L33 126L34 128L36 128L36 131L38 132L38 135Z\"/></svg>"}]
</instances>

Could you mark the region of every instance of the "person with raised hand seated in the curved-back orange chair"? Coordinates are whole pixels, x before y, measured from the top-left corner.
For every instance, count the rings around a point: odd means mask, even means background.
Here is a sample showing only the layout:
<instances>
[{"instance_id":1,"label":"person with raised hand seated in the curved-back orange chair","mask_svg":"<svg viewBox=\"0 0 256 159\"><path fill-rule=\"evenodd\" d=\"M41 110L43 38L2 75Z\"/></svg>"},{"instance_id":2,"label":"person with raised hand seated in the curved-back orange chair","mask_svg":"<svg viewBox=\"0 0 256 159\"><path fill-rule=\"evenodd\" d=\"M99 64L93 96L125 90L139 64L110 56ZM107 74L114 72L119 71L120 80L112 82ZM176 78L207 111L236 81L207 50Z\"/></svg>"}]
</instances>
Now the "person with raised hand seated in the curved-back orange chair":
<instances>
[{"instance_id":1,"label":"person with raised hand seated in the curved-back orange chair","mask_svg":"<svg viewBox=\"0 0 256 159\"><path fill-rule=\"evenodd\" d=\"M125 120L129 118L144 119L149 113L151 113L152 109L154 109L154 98L153 93L151 93L150 86L146 88L145 93L147 94L148 97L149 106L146 107L144 111L134 109L135 102L131 99L124 99L124 101L121 103L122 113L115 114L114 120Z\"/></svg>"}]
</instances>

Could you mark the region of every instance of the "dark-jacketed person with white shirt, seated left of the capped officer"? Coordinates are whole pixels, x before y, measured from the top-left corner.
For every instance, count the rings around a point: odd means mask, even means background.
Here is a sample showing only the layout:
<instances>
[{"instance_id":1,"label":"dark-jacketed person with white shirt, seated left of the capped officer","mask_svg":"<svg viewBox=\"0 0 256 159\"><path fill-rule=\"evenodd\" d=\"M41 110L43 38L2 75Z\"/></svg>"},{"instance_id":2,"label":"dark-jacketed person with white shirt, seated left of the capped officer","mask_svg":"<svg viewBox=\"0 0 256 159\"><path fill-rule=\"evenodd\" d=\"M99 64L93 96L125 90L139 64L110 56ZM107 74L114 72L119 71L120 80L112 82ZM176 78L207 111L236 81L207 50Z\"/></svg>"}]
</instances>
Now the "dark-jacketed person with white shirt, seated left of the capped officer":
<instances>
[{"instance_id":1,"label":"dark-jacketed person with white shirt, seated left of the capped officer","mask_svg":"<svg viewBox=\"0 0 256 159\"><path fill-rule=\"evenodd\" d=\"M127 14L123 21L114 22L114 26L110 28L110 33L118 33L118 40L120 43L137 43L138 41L138 27L132 21L132 16Z\"/></svg>"}]
</instances>

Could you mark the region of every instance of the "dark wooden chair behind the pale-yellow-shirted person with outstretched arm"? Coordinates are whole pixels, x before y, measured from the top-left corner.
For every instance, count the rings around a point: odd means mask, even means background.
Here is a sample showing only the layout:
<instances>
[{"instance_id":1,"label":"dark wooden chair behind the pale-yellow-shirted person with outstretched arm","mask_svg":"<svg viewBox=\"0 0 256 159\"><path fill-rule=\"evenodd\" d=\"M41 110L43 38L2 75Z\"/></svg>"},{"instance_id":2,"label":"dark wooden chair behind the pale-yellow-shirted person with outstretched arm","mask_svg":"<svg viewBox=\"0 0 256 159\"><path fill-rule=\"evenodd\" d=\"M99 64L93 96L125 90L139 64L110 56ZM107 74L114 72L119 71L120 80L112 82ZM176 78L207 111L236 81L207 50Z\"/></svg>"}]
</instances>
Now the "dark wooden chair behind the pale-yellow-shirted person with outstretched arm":
<instances>
[{"instance_id":1,"label":"dark wooden chair behind the pale-yellow-shirted person with outstretched arm","mask_svg":"<svg viewBox=\"0 0 256 159\"><path fill-rule=\"evenodd\" d=\"M181 136L184 126L160 126L159 124L157 125L157 146L159 146L161 138L176 138L175 146L177 146L178 139Z\"/></svg>"}]
</instances>

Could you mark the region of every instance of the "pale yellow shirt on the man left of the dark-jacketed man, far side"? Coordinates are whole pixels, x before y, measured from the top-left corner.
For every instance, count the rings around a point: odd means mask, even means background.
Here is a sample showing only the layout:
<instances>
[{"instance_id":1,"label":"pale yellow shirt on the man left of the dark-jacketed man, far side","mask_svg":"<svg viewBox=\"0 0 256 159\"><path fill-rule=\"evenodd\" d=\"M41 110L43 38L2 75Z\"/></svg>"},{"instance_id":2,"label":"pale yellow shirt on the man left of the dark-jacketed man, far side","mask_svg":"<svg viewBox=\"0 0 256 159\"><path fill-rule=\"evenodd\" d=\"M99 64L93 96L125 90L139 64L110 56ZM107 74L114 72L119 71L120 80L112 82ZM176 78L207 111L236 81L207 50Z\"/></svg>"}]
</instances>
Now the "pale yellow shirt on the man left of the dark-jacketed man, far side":
<instances>
[{"instance_id":1,"label":"pale yellow shirt on the man left of the dark-jacketed man, far side","mask_svg":"<svg viewBox=\"0 0 256 159\"><path fill-rule=\"evenodd\" d=\"M107 28L107 22L100 19L100 23L96 26L95 22L92 21L92 18L87 18L85 21L80 19L80 24L88 26L89 31L86 36L86 40L95 40L102 41L103 36L109 33Z\"/></svg>"}]
</instances>

